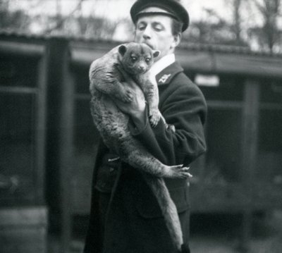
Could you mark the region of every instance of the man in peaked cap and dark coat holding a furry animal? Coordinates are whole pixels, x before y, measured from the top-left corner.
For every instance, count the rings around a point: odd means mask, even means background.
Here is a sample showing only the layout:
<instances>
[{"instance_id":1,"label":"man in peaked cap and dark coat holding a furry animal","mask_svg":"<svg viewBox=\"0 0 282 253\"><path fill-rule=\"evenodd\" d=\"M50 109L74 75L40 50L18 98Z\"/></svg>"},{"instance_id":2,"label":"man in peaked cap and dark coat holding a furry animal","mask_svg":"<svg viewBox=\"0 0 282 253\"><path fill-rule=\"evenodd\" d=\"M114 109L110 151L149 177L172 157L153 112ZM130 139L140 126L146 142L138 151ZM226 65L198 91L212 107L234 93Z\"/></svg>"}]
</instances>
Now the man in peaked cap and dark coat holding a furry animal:
<instances>
[{"instance_id":1,"label":"man in peaked cap and dark coat holding a furry animal","mask_svg":"<svg viewBox=\"0 0 282 253\"><path fill-rule=\"evenodd\" d=\"M152 128L140 88L125 77L135 97L128 104L116 101L128 113L132 135L151 154L168 165L188 166L205 152L203 124L207 106L202 92L183 73L173 54L181 32L189 23L185 8L173 0L137 0L130 10L135 24L135 42L161 51L151 69L159 88L159 109L167 128L159 121ZM189 252L188 180L166 179L166 186L178 209L183 230L183 252ZM85 253L173 253L171 238L157 200L139 171L109 154L99 145L94 167L90 226Z\"/></svg>"}]
</instances>

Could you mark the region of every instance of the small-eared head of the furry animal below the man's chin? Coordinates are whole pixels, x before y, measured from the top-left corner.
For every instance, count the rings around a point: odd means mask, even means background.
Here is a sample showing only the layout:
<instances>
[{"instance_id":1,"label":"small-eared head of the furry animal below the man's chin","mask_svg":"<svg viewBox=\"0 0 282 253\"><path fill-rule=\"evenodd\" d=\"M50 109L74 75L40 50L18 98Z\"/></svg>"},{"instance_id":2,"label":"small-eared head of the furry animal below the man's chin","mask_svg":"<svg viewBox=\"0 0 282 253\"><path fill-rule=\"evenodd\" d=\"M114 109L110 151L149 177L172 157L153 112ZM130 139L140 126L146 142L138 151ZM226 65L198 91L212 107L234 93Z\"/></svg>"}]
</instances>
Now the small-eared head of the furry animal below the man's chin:
<instances>
[{"instance_id":1,"label":"small-eared head of the furry animal below the man's chin","mask_svg":"<svg viewBox=\"0 0 282 253\"><path fill-rule=\"evenodd\" d=\"M147 44L130 42L118 47L119 60L123 68L133 75L147 72L160 52Z\"/></svg>"}]
</instances>

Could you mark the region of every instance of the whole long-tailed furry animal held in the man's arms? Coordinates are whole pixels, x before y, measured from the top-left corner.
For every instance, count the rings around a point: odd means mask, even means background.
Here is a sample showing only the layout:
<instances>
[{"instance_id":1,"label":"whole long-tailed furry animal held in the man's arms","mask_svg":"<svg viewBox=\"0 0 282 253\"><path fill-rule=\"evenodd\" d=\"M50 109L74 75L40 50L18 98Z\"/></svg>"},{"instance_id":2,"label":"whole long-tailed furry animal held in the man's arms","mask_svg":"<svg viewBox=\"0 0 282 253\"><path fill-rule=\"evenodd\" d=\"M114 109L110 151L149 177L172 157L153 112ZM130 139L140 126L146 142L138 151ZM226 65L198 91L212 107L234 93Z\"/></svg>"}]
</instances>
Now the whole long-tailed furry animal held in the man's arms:
<instances>
[{"instance_id":1,"label":"whole long-tailed furry animal held in the man's arms","mask_svg":"<svg viewBox=\"0 0 282 253\"><path fill-rule=\"evenodd\" d=\"M173 243L181 252L183 235L180 221L163 177L187 178L188 168L183 168L182 165L166 166L149 154L145 147L130 135L129 117L118 109L112 99L121 99L130 106L132 93L130 87L121 83L123 76L118 70L123 68L142 88L149 104L150 123L157 125L161 118L157 83L149 81L147 70L158 55L159 52L153 51L146 44L130 42L112 49L94 61L90 66L90 105L94 124L106 146L118 154L122 161L142 171L147 184L157 197Z\"/></svg>"}]
</instances>

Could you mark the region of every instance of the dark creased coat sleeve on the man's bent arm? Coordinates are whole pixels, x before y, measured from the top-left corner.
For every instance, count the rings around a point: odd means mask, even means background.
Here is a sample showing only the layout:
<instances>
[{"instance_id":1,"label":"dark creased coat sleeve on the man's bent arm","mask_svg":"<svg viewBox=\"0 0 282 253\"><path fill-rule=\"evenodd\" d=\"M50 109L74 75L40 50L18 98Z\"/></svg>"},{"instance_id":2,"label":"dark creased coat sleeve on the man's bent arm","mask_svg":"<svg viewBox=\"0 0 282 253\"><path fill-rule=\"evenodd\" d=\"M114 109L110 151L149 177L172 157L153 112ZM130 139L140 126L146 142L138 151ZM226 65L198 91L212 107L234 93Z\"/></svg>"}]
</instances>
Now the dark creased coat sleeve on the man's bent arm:
<instances>
[{"instance_id":1,"label":"dark creased coat sleeve on the man's bent arm","mask_svg":"<svg viewBox=\"0 0 282 253\"><path fill-rule=\"evenodd\" d=\"M162 120L153 128L147 120L143 130L132 134L161 162L187 166L206 150L204 96L188 78L176 78L161 96L159 109L176 131L166 128Z\"/></svg>"}]
</instances>

